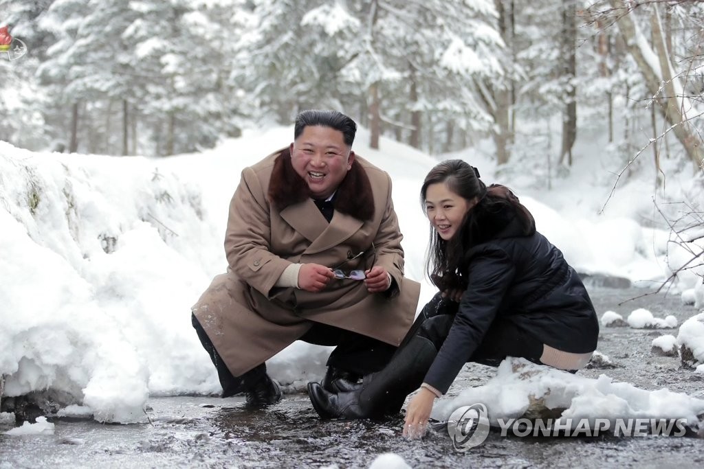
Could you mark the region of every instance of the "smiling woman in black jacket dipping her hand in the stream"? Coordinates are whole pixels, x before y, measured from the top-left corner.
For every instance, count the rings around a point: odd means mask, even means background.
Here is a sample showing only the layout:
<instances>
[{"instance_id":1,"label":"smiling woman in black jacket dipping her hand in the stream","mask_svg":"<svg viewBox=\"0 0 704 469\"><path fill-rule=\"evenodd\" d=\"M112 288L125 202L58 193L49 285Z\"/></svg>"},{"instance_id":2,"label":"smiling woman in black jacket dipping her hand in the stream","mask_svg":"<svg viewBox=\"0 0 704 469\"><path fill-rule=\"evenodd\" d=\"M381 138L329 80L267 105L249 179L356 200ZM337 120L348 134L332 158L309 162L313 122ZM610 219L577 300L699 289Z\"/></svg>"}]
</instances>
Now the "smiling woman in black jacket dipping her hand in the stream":
<instances>
[{"instance_id":1,"label":"smiling woman in black jacket dipping her hand in the stream","mask_svg":"<svg viewBox=\"0 0 704 469\"><path fill-rule=\"evenodd\" d=\"M582 281L513 192L487 188L476 168L448 160L426 176L421 198L431 223L427 271L441 293L389 364L355 390L308 384L322 418L396 413L420 387L403 428L417 437L467 361L496 366L519 356L577 371L596 349L598 321Z\"/></svg>"}]
</instances>

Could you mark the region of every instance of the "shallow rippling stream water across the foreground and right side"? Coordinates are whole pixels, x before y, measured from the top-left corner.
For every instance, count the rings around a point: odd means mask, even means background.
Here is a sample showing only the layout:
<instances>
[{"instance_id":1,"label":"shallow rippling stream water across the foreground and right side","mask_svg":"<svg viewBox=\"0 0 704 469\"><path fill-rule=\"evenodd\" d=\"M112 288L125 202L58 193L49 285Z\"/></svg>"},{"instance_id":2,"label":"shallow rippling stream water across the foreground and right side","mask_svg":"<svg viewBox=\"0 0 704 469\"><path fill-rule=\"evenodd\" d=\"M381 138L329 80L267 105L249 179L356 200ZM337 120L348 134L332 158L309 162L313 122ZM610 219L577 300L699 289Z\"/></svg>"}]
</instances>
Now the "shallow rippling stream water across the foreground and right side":
<instances>
[{"instance_id":1,"label":"shallow rippling stream water across the foreground and right side","mask_svg":"<svg viewBox=\"0 0 704 469\"><path fill-rule=\"evenodd\" d=\"M618 303L643 290L591 288L599 316L611 309L624 318L638 307L656 317L673 314L681 324L696 314L677 296L643 297ZM667 387L704 398L704 375L683 369L677 357L655 356L650 342L677 329L602 328L598 351L616 368L593 368L580 375L605 374L648 390ZM494 374L467 365L449 394L484 383ZM0 426L0 468L365 468L376 456L394 452L414 468L453 467L704 467L704 439L696 437L501 437L465 453L454 451L443 429L420 441L400 436L401 419L384 423L320 420L305 394L287 394L266 410L244 408L234 397L160 397L149 401L150 423L102 425L93 420L54 420L54 435L9 437Z\"/></svg>"}]
</instances>

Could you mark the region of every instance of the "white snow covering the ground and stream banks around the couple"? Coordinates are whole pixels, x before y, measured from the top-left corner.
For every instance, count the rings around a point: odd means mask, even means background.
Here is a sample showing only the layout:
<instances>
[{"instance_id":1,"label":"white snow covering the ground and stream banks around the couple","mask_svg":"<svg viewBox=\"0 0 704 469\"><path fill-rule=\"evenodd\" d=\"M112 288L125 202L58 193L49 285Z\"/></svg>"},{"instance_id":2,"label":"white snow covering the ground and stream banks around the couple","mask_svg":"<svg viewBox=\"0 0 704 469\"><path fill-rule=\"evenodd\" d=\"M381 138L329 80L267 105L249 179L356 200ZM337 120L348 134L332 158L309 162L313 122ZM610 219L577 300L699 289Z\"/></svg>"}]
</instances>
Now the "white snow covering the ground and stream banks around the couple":
<instances>
[{"instance_id":1,"label":"white snow covering the ground and stream banks around the couple","mask_svg":"<svg viewBox=\"0 0 704 469\"><path fill-rule=\"evenodd\" d=\"M130 423L146 419L149 396L220 392L215 368L191 327L190 307L227 268L222 247L227 207L241 169L287 146L292 135L292 127L250 130L213 150L171 158L33 153L0 142L4 396L56 390L73 399L62 410L65 415ZM354 149L394 181L406 274L422 283L420 309L435 290L424 278L429 225L419 191L437 160L386 139L382 150L372 150L367 141L368 131L360 129ZM551 191L536 186L525 172L495 179L494 162L476 149L453 158L479 167L486 183L513 188L534 213L539 231L578 271L647 285L670 274L667 231L633 221L647 205L642 199L650 201L642 185L621 184L609 210L599 210L608 194L606 176L599 174L611 173L598 158L581 158L574 170L578 176L556 179ZM579 167L586 161L593 167ZM603 198L593 195L595 187ZM699 277L683 277L672 288L701 298L700 283ZM642 324L677 326L652 314L636 316ZM700 362L701 328L701 319L690 319L677 338ZM322 377L329 351L296 342L268 361L268 369L284 388L300 390ZM507 367L505 362L484 387L441 399L441 408L448 413L452 406L483 401L513 415L528 394L549 386L555 405L580 415L617 409L689 416L704 409L702 401L612 383L608 376L590 380L541 370L524 380Z\"/></svg>"}]
</instances>

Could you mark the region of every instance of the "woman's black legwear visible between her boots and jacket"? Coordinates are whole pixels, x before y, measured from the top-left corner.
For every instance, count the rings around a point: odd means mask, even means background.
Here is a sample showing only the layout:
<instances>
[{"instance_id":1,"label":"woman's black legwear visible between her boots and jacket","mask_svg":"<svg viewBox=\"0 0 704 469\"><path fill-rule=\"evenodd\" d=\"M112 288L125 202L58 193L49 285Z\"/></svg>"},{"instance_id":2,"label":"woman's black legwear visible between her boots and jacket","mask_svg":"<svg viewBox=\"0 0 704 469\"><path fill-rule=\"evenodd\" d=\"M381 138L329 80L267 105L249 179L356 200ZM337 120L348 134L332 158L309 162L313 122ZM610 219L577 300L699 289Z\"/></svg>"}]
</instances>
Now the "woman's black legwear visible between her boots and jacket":
<instances>
[{"instance_id":1,"label":"woman's black legwear visible between her boots and jacket","mask_svg":"<svg viewBox=\"0 0 704 469\"><path fill-rule=\"evenodd\" d=\"M459 306L459 303L447 300L437 293L423 307L406 338L401 342L401 347L414 335L420 335L433 342L435 348L439 350L450 333ZM482 342L467 361L498 366L507 356L517 356L540 364L542 354L541 340L516 326L513 321L497 319L491 324Z\"/></svg>"}]
</instances>

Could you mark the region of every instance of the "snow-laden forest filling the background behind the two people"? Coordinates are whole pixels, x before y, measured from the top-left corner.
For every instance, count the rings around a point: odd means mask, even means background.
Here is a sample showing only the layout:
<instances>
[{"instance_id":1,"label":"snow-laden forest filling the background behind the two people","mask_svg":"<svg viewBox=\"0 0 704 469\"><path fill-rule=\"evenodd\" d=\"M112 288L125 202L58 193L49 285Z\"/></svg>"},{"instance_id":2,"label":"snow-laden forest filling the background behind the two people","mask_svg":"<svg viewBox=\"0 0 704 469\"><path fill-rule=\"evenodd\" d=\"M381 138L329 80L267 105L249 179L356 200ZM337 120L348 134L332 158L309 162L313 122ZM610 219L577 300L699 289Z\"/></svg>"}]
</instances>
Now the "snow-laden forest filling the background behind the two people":
<instances>
[{"instance_id":1,"label":"snow-laden forest filling the background behind the two people","mask_svg":"<svg viewBox=\"0 0 704 469\"><path fill-rule=\"evenodd\" d=\"M703 172L700 0L0 0L0 27L26 46L0 140L30 150L198 152L334 108L372 148L568 170L598 131L624 167Z\"/></svg>"}]
</instances>

